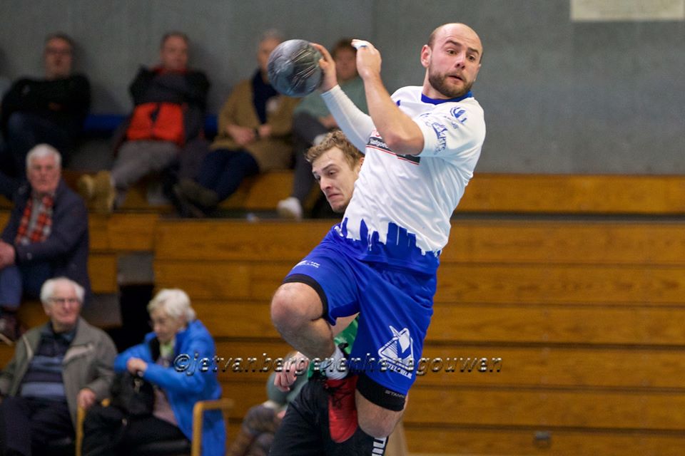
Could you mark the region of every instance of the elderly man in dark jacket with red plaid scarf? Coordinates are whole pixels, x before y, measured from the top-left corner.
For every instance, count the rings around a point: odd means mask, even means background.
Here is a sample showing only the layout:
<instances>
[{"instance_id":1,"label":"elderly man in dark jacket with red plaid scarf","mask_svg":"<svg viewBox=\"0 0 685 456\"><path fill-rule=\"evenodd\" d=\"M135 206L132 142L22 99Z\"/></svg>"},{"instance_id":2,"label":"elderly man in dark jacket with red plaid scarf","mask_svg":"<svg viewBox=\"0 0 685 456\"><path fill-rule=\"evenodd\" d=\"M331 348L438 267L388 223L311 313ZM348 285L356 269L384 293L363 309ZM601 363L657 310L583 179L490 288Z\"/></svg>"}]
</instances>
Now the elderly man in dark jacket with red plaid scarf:
<instances>
[{"instance_id":1,"label":"elderly man in dark jacket with red plaid scarf","mask_svg":"<svg viewBox=\"0 0 685 456\"><path fill-rule=\"evenodd\" d=\"M0 237L0 338L19 336L16 309L24 296L38 297L44 281L65 276L86 290L88 214L83 200L61 178L61 156L36 145L26 155L29 182L16 192Z\"/></svg>"}]
</instances>

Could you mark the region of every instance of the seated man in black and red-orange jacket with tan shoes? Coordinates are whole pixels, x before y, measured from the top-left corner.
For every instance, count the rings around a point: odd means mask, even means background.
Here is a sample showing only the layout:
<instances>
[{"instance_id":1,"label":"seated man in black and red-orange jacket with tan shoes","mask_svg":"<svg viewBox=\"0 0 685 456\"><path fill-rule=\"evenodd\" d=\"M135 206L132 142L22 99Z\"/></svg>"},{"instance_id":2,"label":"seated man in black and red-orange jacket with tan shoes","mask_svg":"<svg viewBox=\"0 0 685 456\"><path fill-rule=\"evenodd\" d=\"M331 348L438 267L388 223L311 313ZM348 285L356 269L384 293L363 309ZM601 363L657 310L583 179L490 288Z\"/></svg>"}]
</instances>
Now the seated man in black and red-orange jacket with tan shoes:
<instances>
[{"instance_id":1,"label":"seated man in black and red-orange jacket with tan shoes","mask_svg":"<svg viewBox=\"0 0 685 456\"><path fill-rule=\"evenodd\" d=\"M78 191L98 212L111 212L141 178L178 160L189 142L203 136L209 81L188 68L188 36L163 36L160 64L141 68L129 90L133 113L111 172L83 176Z\"/></svg>"}]
</instances>

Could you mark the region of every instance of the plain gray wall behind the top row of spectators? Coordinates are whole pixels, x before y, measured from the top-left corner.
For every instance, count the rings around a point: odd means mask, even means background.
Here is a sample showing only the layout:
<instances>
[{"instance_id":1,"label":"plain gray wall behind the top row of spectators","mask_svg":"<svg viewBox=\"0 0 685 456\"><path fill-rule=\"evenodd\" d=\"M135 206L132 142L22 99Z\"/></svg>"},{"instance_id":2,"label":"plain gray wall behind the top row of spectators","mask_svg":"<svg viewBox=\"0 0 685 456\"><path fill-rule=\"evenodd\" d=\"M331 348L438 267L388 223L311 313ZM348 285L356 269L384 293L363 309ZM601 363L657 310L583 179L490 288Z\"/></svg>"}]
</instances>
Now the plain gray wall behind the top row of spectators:
<instances>
[{"instance_id":1,"label":"plain gray wall behind the top row of spectators","mask_svg":"<svg viewBox=\"0 0 685 456\"><path fill-rule=\"evenodd\" d=\"M484 43L474 86L487 120L480 172L685 173L685 25L572 23L568 0L0 1L0 74L41 73L42 39L80 44L96 113L130 109L127 87L164 31L191 36L216 112L255 68L267 28L325 45L373 41L390 90L420 84L419 50L446 21Z\"/></svg>"}]
</instances>

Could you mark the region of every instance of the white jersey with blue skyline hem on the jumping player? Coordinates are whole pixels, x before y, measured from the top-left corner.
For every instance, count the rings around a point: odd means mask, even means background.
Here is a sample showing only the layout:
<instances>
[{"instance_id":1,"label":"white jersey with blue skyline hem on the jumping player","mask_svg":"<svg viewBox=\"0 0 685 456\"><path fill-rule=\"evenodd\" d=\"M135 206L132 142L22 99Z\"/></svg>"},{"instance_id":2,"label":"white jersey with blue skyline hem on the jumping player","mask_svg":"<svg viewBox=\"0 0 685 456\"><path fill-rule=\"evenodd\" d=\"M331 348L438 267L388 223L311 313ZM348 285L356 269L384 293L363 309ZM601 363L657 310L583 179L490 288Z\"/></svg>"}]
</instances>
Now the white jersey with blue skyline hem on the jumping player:
<instances>
[{"instance_id":1,"label":"white jersey with blue skyline hem on the jumping player","mask_svg":"<svg viewBox=\"0 0 685 456\"><path fill-rule=\"evenodd\" d=\"M401 88L392 100L421 128L423 150L397 155L373 128L355 192L336 231L360 259L432 273L450 236L452 212L480 157L483 110L471 93L433 100L420 86ZM359 135L359 129L348 134L341 125L346 135Z\"/></svg>"}]
</instances>

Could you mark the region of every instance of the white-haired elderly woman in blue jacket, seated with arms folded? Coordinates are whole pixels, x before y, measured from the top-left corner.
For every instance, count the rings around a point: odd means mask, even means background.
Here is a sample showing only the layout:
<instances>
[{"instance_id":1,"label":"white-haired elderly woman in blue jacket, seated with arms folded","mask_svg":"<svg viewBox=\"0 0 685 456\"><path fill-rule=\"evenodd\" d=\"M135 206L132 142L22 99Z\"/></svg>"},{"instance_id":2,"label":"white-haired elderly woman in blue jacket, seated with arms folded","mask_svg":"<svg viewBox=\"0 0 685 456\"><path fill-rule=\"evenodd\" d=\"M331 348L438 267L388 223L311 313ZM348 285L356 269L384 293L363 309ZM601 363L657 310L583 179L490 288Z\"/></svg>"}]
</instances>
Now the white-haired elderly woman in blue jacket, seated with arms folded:
<instances>
[{"instance_id":1,"label":"white-haired elderly woman in blue jacket, seated with arms folded","mask_svg":"<svg viewBox=\"0 0 685 456\"><path fill-rule=\"evenodd\" d=\"M195 318L188 295L178 289L163 289L150 301L148 311L154 332L143 343L128 348L114 361L116 372L128 371L152 383L154 405L151 415L121 415L111 419L111 407L96 405L88 411L83 426L83 455L124 455L149 442L193 438L193 407L200 400L218 399L221 387L217 375L207 372L179 372L173 361L179 355L213 359L212 336ZM122 419L126 418L126 425ZM224 455L225 426L220 411L205 413L203 456Z\"/></svg>"}]
</instances>

